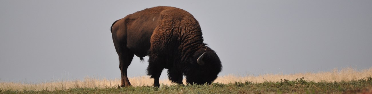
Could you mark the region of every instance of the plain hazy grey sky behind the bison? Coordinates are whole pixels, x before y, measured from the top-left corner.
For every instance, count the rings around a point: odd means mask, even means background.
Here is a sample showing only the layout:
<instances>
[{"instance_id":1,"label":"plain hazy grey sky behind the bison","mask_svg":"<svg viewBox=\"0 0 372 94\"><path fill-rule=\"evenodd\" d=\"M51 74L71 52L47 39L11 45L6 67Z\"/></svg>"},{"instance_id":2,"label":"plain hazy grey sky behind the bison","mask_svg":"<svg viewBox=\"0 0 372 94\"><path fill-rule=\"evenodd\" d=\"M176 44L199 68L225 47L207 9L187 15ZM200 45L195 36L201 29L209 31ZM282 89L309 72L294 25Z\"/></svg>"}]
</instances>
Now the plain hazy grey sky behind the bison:
<instances>
[{"instance_id":1,"label":"plain hazy grey sky behind the bison","mask_svg":"<svg viewBox=\"0 0 372 94\"><path fill-rule=\"evenodd\" d=\"M219 76L372 67L371 0L0 0L0 81L119 78L111 24L155 6L199 21ZM128 76L146 75L147 59Z\"/></svg>"}]
</instances>

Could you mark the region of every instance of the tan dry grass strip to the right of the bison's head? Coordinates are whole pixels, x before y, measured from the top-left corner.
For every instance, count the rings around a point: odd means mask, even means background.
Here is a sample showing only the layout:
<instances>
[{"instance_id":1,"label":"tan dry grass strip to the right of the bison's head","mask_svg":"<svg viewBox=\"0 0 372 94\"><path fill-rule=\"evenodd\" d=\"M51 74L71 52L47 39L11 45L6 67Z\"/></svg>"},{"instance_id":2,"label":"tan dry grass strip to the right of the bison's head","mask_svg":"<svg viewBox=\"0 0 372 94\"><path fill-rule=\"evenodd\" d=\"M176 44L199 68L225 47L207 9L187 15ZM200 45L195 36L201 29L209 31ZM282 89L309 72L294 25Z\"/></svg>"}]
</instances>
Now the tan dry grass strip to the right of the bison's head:
<instances>
[{"instance_id":1,"label":"tan dry grass strip to the right of the bison's head","mask_svg":"<svg viewBox=\"0 0 372 94\"><path fill-rule=\"evenodd\" d=\"M264 74L259 76L234 76L225 75L217 78L214 82L219 83L230 83L235 81L252 81L254 83L263 83L264 81L280 81L280 79L286 80L296 80L297 78L304 77L304 80L315 81L315 82L340 82L340 81L350 81L358 80L361 78L369 77L372 75L372 67L369 69L356 71L353 68L343 68L341 70L333 69L328 72L319 73L296 73L296 74Z\"/></svg>"}]
</instances>

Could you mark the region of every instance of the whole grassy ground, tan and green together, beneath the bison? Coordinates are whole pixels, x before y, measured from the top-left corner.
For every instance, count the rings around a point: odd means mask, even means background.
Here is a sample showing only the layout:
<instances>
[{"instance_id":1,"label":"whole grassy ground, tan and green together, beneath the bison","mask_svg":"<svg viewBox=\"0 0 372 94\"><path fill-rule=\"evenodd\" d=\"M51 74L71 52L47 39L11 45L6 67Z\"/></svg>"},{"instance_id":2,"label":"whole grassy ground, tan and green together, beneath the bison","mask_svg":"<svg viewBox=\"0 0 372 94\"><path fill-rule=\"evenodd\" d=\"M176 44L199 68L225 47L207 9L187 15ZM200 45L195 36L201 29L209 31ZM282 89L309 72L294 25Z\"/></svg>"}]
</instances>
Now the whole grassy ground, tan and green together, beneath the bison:
<instances>
[{"instance_id":1,"label":"whole grassy ground, tan and green together, beneath the bison","mask_svg":"<svg viewBox=\"0 0 372 94\"><path fill-rule=\"evenodd\" d=\"M29 84L0 82L0 93L372 93L372 68L334 69L319 73L225 75L211 85L177 85L161 80L152 87L148 76L129 78L132 87L118 88L119 79L86 77L84 80Z\"/></svg>"}]
</instances>

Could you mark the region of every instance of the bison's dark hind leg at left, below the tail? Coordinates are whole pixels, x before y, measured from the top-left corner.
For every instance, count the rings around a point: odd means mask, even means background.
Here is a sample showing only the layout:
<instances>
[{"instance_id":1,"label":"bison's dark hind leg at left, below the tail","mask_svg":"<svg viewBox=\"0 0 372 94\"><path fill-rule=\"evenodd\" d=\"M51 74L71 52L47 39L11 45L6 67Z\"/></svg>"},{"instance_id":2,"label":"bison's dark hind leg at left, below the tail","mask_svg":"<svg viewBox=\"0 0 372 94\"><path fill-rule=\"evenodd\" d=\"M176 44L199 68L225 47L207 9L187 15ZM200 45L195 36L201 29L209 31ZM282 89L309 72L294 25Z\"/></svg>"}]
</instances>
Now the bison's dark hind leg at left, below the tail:
<instances>
[{"instance_id":1,"label":"bison's dark hind leg at left, below the tail","mask_svg":"<svg viewBox=\"0 0 372 94\"><path fill-rule=\"evenodd\" d=\"M128 75L126 70L128 66L131 64L134 54L131 53L129 50L126 50L122 53L119 53L119 68L121 72L121 87L130 86L131 83L129 82Z\"/></svg>"}]
</instances>

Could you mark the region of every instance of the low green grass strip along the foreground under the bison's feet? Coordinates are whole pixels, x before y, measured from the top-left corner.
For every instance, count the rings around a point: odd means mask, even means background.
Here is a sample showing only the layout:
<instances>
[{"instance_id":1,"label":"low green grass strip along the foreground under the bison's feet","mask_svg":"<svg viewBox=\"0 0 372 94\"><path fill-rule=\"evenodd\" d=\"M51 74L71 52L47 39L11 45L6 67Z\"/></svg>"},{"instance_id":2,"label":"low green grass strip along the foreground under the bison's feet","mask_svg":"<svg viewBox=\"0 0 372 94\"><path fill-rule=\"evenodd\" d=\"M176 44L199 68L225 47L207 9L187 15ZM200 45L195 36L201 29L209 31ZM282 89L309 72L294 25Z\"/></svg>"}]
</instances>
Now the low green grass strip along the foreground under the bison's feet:
<instances>
[{"instance_id":1,"label":"low green grass strip along the foreground under the bison's feet","mask_svg":"<svg viewBox=\"0 0 372 94\"><path fill-rule=\"evenodd\" d=\"M161 88L152 86L140 87L107 87L107 88L70 88L65 90L47 91L3 91L0 94L215 94L215 93L360 93L372 89L372 78L340 82L314 82L299 78L293 81L280 80L276 82L253 83L251 81L235 82L229 84L213 83L211 85L162 85Z\"/></svg>"}]
</instances>

